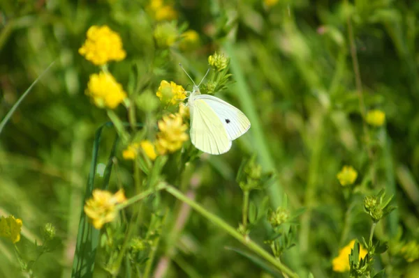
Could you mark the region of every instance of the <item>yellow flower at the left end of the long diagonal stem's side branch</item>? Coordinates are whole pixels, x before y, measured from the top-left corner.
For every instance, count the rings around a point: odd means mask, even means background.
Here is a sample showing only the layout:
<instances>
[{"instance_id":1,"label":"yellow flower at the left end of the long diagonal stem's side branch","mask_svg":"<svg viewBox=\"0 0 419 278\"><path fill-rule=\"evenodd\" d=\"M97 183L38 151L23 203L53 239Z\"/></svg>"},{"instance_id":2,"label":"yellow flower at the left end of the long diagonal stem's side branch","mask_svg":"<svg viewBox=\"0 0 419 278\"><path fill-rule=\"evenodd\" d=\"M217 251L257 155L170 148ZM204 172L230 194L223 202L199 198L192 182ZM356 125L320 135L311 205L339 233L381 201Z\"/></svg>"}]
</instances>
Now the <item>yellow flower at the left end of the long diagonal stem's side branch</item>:
<instances>
[{"instance_id":1,"label":"yellow flower at the left end of the long diagonal stem's side branch","mask_svg":"<svg viewBox=\"0 0 419 278\"><path fill-rule=\"evenodd\" d=\"M119 190L113 195L106 190L93 190L93 196L84 205L84 213L96 229L101 229L103 224L115 219L117 216L115 205L124 201L126 201L124 190Z\"/></svg>"}]
</instances>

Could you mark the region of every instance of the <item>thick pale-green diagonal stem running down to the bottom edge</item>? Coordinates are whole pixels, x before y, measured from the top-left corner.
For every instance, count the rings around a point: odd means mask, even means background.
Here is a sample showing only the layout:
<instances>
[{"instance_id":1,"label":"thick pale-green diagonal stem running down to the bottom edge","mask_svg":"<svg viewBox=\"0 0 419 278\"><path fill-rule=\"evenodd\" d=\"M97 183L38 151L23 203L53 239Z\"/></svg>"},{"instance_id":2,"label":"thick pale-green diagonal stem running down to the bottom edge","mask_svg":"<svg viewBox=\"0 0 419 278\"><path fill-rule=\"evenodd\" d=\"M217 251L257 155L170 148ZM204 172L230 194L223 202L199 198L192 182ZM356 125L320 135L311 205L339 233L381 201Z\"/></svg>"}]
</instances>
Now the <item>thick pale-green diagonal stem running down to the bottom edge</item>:
<instances>
[{"instance_id":1,"label":"thick pale-green diagonal stem running down to the bottom edge","mask_svg":"<svg viewBox=\"0 0 419 278\"><path fill-rule=\"evenodd\" d=\"M198 203L196 203L196 201L189 199L184 194L182 194L182 192L179 192L179 190L177 190L175 187L167 185L165 190L166 192L175 196L180 201L187 203L189 206L191 206L191 208L196 210L196 212L200 213L200 215L203 215L203 217L207 218L208 220L216 224L216 226L219 226L220 229L223 229L228 234L233 236L233 238L240 241L243 245L246 245L247 247L249 247L249 249L251 249L253 252L258 254L262 258L265 258L266 261L269 261L270 263L272 263L272 265L274 265L281 272L286 273L286 275L288 275L289 277L293 277L293 278L298 277L298 275L295 272L293 272L291 269L286 267L286 265L283 265L280 261L274 258L274 256L266 252L265 249L257 245L252 240L250 240L249 237L244 237L241 233L236 231L236 229L234 229L232 226L227 224L223 219L210 213L208 210L203 208L203 206L200 206Z\"/></svg>"}]
</instances>

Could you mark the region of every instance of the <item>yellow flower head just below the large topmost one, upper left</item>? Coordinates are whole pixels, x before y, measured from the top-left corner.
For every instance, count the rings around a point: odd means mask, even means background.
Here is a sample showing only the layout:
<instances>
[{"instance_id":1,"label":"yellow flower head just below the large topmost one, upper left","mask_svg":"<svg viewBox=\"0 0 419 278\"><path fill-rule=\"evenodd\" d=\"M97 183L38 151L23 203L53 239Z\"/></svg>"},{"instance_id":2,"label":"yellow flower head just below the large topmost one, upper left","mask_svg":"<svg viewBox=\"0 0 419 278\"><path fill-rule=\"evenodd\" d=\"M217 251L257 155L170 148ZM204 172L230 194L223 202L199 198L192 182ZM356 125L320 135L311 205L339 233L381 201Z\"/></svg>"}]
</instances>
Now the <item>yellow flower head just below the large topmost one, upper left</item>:
<instances>
[{"instance_id":1,"label":"yellow flower head just below the large topmost one, upper left","mask_svg":"<svg viewBox=\"0 0 419 278\"><path fill-rule=\"evenodd\" d=\"M97 107L114 109L126 98L126 93L110 73L99 72L90 75L87 84L88 95Z\"/></svg>"}]
</instances>

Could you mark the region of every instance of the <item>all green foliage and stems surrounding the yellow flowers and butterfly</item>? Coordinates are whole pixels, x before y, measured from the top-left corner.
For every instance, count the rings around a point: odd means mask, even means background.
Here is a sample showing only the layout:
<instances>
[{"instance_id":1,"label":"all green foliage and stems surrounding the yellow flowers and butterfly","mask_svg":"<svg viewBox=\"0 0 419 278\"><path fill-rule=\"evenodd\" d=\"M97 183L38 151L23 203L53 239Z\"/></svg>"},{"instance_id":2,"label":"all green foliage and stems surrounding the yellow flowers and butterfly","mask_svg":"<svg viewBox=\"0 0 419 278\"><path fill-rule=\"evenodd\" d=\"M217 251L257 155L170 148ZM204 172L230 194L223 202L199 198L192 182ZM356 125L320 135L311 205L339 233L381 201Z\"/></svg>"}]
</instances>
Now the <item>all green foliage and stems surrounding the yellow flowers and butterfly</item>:
<instances>
[{"instance_id":1,"label":"all green foliage and stems surrounding the yellow flowers and butterfly","mask_svg":"<svg viewBox=\"0 0 419 278\"><path fill-rule=\"evenodd\" d=\"M23 222L15 245L0 231L0 277L416 277L419 4L163 1L175 14L159 21L150 3L0 1L0 215ZM126 58L84 59L92 25ZM193 80L210 68L201 93L251 129L221 156L187 140L125 160L179 112L156 97L190 84L179 63ZM126 92L116 109L85 95L101 70ZM83 210L94 189L128 199L100 230Z\"/></svg>"}]
</instances>

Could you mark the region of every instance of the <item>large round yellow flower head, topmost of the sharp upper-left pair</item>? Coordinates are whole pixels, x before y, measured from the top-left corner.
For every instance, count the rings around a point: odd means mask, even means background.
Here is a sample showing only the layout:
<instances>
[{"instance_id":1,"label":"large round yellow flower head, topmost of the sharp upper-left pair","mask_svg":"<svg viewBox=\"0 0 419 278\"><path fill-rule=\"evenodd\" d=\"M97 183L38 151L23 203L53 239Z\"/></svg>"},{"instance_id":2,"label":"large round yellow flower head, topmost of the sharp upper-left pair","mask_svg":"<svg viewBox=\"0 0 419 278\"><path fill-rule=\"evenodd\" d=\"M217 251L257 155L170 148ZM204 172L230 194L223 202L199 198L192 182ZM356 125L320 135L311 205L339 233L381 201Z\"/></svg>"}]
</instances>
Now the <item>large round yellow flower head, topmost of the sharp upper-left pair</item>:
<instances>
[{"instance_id":1,"label":"large round yellow flower head, topmost of the sharp upper-left pair","mask_svg":"<svg viewBox=\"0 0 419 278\"><path fill-rule=\"evenodd\" d=\"M112 60L121 61L126 56L121 37L106 25L91 26L87 30L87 40L79 53L95 65L104 65Z\"/></svg>"}]
</instances>

